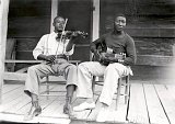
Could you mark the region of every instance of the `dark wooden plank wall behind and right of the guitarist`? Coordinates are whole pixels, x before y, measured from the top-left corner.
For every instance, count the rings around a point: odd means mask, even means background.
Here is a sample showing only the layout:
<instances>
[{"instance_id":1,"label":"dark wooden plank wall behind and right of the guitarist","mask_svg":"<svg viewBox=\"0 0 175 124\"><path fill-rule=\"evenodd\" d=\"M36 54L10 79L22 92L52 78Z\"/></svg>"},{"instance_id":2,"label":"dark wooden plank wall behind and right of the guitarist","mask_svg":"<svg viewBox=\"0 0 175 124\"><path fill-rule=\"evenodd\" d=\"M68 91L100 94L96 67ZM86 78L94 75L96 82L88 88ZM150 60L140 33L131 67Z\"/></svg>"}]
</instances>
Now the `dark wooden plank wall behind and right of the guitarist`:
<instances>
[{"instance_id":1,"label":"dark wooden plank wall behind and right of the guitarist","mask_svg":"<svg viewBox=\"0 0 175 124\"><path fill-rule=\"evenodd\" d=\"M125 30L136 42L135 77L160 78L174 57L174 0L101 0L101 35L113 30L115 13L126 14Z\"/></svg>"}]
</instances>

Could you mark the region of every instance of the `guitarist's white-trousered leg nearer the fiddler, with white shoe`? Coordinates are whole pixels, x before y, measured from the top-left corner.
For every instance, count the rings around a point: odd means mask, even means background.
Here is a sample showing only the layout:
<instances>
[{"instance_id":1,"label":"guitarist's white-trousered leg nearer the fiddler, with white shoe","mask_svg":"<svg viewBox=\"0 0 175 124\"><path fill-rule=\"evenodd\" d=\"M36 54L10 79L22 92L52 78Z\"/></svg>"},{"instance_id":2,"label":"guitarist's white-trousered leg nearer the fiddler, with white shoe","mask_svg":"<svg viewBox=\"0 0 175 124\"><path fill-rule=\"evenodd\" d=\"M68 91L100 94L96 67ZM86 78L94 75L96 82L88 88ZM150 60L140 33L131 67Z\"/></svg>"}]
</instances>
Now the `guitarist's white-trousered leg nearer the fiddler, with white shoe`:
<instances>
[{"instance_id":1,"label":"guitarist's white-trousered leg nearer the fiddler, with white shoe","mask_svg":"<svg viewBox=\"0 0 175 124\"><path fill-rule=\"evenodd\" d=\"M92 76L103 76L105 68L105 66L102 66L97 61L86 61L79 65L77 97L84 98L85 102L74 106L74 111L83 111L95 108L92 91Z\"/></svg>"}]
</instances>

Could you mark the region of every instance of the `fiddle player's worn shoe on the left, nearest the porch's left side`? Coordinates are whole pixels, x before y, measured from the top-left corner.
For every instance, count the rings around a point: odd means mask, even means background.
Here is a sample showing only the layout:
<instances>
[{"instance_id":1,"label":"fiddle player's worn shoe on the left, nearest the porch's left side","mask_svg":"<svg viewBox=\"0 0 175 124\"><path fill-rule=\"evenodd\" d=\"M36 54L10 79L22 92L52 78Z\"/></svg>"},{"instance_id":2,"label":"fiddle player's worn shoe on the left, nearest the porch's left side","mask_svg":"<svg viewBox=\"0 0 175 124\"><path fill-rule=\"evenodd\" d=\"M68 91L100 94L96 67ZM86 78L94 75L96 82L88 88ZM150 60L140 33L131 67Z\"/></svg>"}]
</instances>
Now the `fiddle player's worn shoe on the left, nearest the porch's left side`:
<instances>
[{"instance_id":1,"label":"fiddle player's worn shoe on the left, nearest the porch's left side","mask_svg":"<svg viewBox=\"0 0 175 124\"><path fill-rule=\"evenodd\" d=\"M37 116L40 113L42 113L42 108L40 106L38 106L38 108L32 106L30 112L27 112L27 114L24 115L24 121L33 120L34 116Z\"/></svg>"}]
</instances>

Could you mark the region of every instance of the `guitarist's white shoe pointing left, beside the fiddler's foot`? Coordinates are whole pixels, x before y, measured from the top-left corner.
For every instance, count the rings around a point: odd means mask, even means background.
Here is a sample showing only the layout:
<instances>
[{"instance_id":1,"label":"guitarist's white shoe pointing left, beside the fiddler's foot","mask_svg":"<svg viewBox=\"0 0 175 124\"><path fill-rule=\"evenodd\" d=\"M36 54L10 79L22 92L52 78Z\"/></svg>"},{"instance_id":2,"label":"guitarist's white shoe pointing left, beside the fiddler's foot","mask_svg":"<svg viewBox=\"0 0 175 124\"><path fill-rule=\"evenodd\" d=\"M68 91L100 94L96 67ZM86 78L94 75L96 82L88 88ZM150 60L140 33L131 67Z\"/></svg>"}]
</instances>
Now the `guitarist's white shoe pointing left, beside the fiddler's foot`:
<instances>
[{"instance_id":1,"label":"guitarist's white shoe pointing left, beside the fiddler's foot","mask_svg":"<svg viewBox=\"0 0 175 124\"><path fill-rule=\"evenodd\" d=\"M78 112L78 111L93 110L93 109L95 109L95 102L92 102L92 103L83 102L80 105L74 106L73 111Z\"/></svg>"}]
</instances>

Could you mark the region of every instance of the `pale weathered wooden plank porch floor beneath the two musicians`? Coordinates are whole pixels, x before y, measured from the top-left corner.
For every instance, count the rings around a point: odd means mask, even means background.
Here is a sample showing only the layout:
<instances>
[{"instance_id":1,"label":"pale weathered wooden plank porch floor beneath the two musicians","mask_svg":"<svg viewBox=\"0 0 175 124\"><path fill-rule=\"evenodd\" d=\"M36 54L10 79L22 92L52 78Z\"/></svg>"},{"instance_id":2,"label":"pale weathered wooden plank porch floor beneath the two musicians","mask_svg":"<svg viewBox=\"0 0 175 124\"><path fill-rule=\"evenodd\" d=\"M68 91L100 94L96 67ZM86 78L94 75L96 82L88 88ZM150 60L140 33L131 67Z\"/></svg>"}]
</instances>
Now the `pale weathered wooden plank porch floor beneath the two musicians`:
<instances>
[{"instance_id":1,"label":"pale weathered wooden plank porch floor beneath the two musicians","mask_svg":"<svg viewBox=\"0 0 175 124\"><path fill-rule=\"evenodd\" d=\"M175 83L171 80L130 80L130 99L124 103L121 97L118 110L115 111L115 100L110 105L110 113L106 123L139 123L139 124L175 124ZM62 113L65 104L65 86L56 84L51 89L58 90L59 97L40 97L43 112L30 122L23 121L28 111L31 99L23 93L24 83L5 83L2 90L2 104L0 105L0 121L23 123L58 123L73 122L96 123L100 110L98 95L95 95L96 108L92 111L74 112L75 119L70 120ZM44 90L45 87L42 87ZM96 89L97 92L101 88ZM74 99L73 105L82 102ZM74 123L75 124L75 123Z\"/></svg>"}]
</instances>

